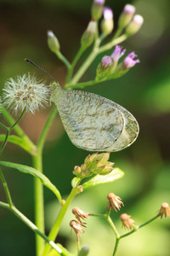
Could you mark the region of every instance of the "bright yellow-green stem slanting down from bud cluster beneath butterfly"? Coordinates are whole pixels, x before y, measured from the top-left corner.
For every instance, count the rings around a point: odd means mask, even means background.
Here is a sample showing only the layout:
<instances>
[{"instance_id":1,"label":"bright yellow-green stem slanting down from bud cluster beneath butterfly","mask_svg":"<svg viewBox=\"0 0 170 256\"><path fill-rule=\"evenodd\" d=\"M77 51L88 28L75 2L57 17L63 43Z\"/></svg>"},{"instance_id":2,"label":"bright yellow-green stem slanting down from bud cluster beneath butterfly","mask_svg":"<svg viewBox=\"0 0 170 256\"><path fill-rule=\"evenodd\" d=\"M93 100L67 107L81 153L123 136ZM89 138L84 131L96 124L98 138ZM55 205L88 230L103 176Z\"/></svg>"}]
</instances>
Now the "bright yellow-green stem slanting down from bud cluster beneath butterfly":
<instances>
[{"instance_id":1,"label":"bright yellow-green stem slanting down from bud cluster beneath butterfly","mask_svg":"<svg viewBox=\"0 0 170 256\"><path fill-rule=\"evenodd\" d=\"M77 184L78 186L78 184ZM50 231L49 233L49 236L48 238L51 240L51 241L54 241L56 236L58 235L58 232L59 232L59 227L60 227L60 224L63 220L63 218L65 217L65 212L67 210L67 208L69 207L71 201L73 200L73 198L78 194L80 193L80 190L76 187L74 189L71 190L71 194L67 197L67 200L65 201L65 203L61 206L61 209L59 211L59 215L54 223L54 226L52 228L52 230ZM46 256L48 254L48 250L50 249L49 245L46 244L46 247L44 249L44 252L43 252L43 256Z\"/></svg>"}]
</instances>

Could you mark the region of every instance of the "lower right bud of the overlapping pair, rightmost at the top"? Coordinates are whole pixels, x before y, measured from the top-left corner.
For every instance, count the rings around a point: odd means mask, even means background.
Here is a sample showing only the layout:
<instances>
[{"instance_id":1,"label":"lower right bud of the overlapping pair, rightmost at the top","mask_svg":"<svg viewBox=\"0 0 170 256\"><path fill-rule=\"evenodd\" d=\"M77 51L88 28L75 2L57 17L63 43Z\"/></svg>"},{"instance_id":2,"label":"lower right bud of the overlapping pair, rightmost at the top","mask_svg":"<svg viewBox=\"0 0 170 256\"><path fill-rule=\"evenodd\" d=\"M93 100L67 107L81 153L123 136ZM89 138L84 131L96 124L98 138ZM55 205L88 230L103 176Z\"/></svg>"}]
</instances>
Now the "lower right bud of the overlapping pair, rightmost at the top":
<instances>
[{"instance_id":1,"label":"lower right bud of the overlapping pair, rightmost at the top","mask_svg":"<svg viewBox=\"0 0 170 256\"><path fill-rule=\"evenodd\" d=\"M144 18L141 15L134 15L133 20L127 26L125 33L127 36L132 36L139 31L139 28L142 26Z\"/></svg>"}]
</instances>

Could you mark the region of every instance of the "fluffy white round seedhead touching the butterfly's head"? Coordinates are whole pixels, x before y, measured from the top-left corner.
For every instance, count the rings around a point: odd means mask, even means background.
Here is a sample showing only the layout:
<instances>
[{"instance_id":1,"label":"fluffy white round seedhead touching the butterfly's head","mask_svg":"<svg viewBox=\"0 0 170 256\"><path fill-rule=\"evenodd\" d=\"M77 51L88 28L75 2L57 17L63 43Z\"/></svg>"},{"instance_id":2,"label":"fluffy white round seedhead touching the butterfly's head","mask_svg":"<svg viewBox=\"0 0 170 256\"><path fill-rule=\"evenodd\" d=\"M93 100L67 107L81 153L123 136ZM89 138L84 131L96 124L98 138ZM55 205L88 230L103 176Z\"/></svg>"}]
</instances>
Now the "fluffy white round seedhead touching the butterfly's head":
<instances>
[{"instance_id":1,"label":"fluffy white round seedhead touching the butterfly's head","mask_svg":"<svg viewBox=\"0 0 170 256\"><path fill-rule=\"evenodd\" d=\"M3 89L3 105L15 114L25 108L26 112L35 113L38 108L48 105L49 94L48 86L28 73L8 79Z\"/></svg>"}]
</instances>

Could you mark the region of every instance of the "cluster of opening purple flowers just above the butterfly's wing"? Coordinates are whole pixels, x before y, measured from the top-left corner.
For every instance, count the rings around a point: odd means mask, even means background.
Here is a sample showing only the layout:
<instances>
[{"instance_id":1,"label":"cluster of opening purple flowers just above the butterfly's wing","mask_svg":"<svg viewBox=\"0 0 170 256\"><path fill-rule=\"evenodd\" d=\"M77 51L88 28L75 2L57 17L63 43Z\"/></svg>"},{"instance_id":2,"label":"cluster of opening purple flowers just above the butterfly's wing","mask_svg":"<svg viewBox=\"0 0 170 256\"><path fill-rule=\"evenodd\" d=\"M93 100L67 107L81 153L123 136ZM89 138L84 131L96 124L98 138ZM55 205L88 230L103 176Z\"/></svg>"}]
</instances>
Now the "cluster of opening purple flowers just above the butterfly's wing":
<instances>
[{"instance_id":1,"label":"cluster of opening purple flowers just above the butterfly's wing","mask_svg":"<svg viewBox=\"0 0 170 256\"><path fill-rule=\"evenodd\" d=\"M134 60L137 55L131 52L127 57L118 65L119 59L124 55L126 49L122 50L120 45L116 45L111 56L105 55L96 70L96 79L101 79L110 75L114 75L114 78L121 77L124 73L127 73L129 68L133 67L136 63L139 63L139 59Z\"/></svg>"}]
</instances>

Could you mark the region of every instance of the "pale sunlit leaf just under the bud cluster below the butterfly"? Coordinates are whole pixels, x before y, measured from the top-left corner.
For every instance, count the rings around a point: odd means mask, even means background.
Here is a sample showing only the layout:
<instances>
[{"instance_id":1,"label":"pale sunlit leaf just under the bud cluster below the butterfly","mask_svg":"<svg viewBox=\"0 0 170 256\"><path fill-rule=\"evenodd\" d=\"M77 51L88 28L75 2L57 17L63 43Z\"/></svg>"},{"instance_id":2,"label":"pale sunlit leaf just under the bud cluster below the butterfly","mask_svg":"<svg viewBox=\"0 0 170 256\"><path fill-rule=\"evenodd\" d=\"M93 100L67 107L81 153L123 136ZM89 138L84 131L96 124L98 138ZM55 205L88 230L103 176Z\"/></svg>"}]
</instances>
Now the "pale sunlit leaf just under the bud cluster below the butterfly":
<instances>
[{"instance_id":1,"label":"pale sunlit leaf just under the bud cluster below the butterfly","mask_svg":"<svg viewBox=\"0 0 170 256\"><path fill-rule=\"evenodd\" d=\"M112 183L118 178L123 177L124 172L119 168L115 168L111 173L107 175L96 175L95 177L88 180L87 183L82 184L83 191L103 183Z\"/></svg>"}]
</instances>

